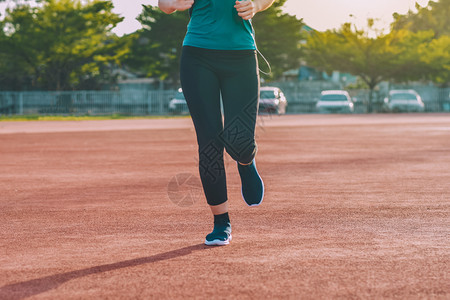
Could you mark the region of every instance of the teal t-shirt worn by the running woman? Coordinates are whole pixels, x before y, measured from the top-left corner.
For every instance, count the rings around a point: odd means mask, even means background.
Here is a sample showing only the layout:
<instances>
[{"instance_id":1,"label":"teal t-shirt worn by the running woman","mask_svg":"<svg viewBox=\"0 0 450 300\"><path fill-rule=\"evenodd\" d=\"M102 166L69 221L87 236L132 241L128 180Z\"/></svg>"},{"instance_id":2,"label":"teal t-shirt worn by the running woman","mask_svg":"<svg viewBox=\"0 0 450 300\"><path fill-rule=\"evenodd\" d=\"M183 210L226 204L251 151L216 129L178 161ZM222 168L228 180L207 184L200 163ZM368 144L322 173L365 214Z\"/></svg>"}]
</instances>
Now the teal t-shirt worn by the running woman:
<instances>
[{"instance_id":1,"label":"teal t-shirt worn by the running woman","mask_svg":"<svg viewBox=\"0 0 450 300\"><path fill-rule=\"evenodd\" d=\"M255 50L250 21L238 16L235 0L196 0L183 46Z\"/></svg>"}]
</instances>

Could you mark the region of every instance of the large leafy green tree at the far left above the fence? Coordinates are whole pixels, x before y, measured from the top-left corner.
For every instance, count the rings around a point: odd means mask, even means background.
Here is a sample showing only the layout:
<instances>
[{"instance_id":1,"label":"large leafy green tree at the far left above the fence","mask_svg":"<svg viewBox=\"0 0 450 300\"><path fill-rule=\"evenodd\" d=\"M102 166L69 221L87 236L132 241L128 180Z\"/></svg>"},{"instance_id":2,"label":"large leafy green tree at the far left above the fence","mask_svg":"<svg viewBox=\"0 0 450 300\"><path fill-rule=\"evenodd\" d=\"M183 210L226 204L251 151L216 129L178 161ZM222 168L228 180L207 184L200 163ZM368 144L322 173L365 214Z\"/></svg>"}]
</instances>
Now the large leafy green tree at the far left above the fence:
<instances>
[{"instance_id":1,"label":"large leafy green tree at the far left above the fence","mask_svg":"<svg viewBox=\"0 0 450 300\"><path fill-rule=\"evenodd\" d=\"M111 33L122 21L112 8L110 1L43 0L7 10L0 21L2 72L16 71L10 81L30 78L33 89L98 88L127 52Z\"/></svg>"}]
</instances>

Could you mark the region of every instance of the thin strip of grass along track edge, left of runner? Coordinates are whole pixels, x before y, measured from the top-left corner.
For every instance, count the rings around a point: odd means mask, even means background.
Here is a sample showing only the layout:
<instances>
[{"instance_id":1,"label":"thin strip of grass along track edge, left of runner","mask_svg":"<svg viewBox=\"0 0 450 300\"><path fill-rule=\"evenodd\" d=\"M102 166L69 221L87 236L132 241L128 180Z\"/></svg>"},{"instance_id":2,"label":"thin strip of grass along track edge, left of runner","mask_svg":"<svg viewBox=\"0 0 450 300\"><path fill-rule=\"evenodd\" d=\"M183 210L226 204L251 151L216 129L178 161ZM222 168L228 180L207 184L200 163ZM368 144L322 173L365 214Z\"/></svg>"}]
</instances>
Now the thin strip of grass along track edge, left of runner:
<instances>
[{"instance_id":1,"label":"thin strip of grass along track edge, left of runner","mask_svg":"<svg viewBox=\"0 0 450 300\"><path fill-rule=\"evenodd\" d=\"M0 116L2 121L88 121L88 120L121 120L121 119L173 119L173 118L187 118L189 116L127 116L120 114L106 115L106 116Z\"/></svg>"}]
</instances>

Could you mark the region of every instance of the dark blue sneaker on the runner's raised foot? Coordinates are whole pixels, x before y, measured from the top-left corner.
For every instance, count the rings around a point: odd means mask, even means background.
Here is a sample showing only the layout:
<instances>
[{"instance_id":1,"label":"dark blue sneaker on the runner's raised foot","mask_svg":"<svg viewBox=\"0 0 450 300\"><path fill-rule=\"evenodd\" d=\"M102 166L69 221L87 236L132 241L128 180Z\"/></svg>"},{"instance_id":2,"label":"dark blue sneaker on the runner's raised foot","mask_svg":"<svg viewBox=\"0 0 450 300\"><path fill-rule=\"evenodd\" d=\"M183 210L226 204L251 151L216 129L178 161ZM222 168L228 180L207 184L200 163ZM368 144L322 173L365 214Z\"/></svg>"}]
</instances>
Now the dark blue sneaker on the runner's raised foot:
<instances>
[{"instance_id":1,"label":"dark blue sneaker on the runner's raised foot","mask_svg":"<svg viewBox=\"0 0 450 300\"><path fill-rule=\"evenodd\" d=\"M238 163L239 175L241 176L241 193L248 206L258 206L264 198L264 182L256 170L255 159L249 165Z\"/></svg>"}]
</instances>

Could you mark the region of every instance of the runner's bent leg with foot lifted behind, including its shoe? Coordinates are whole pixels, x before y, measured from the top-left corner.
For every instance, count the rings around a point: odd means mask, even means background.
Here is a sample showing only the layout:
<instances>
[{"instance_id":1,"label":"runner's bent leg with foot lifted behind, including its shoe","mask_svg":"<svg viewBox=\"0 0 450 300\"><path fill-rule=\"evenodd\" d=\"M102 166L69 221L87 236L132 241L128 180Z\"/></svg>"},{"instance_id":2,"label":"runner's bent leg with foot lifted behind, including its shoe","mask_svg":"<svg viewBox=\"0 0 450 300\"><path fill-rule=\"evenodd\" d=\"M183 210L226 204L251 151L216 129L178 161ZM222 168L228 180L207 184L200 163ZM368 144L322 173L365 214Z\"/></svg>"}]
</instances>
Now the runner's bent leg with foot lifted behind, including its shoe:
<instances>
[{"instance_id":1,"label":"runner's bent leg with foot lifted behind, including its shoe","mask_svg":"<svg viewBox=\"0 0 450 300\"><path fill-rule=\"evenodd\" d=\"M236 51L224 65L220 79L224 105L223 141L238 162L242 197L249 206L261 204L264 183L256 169L255 142L258 115L259 76L256 54Z\"/></svg>"}]
</instances>

